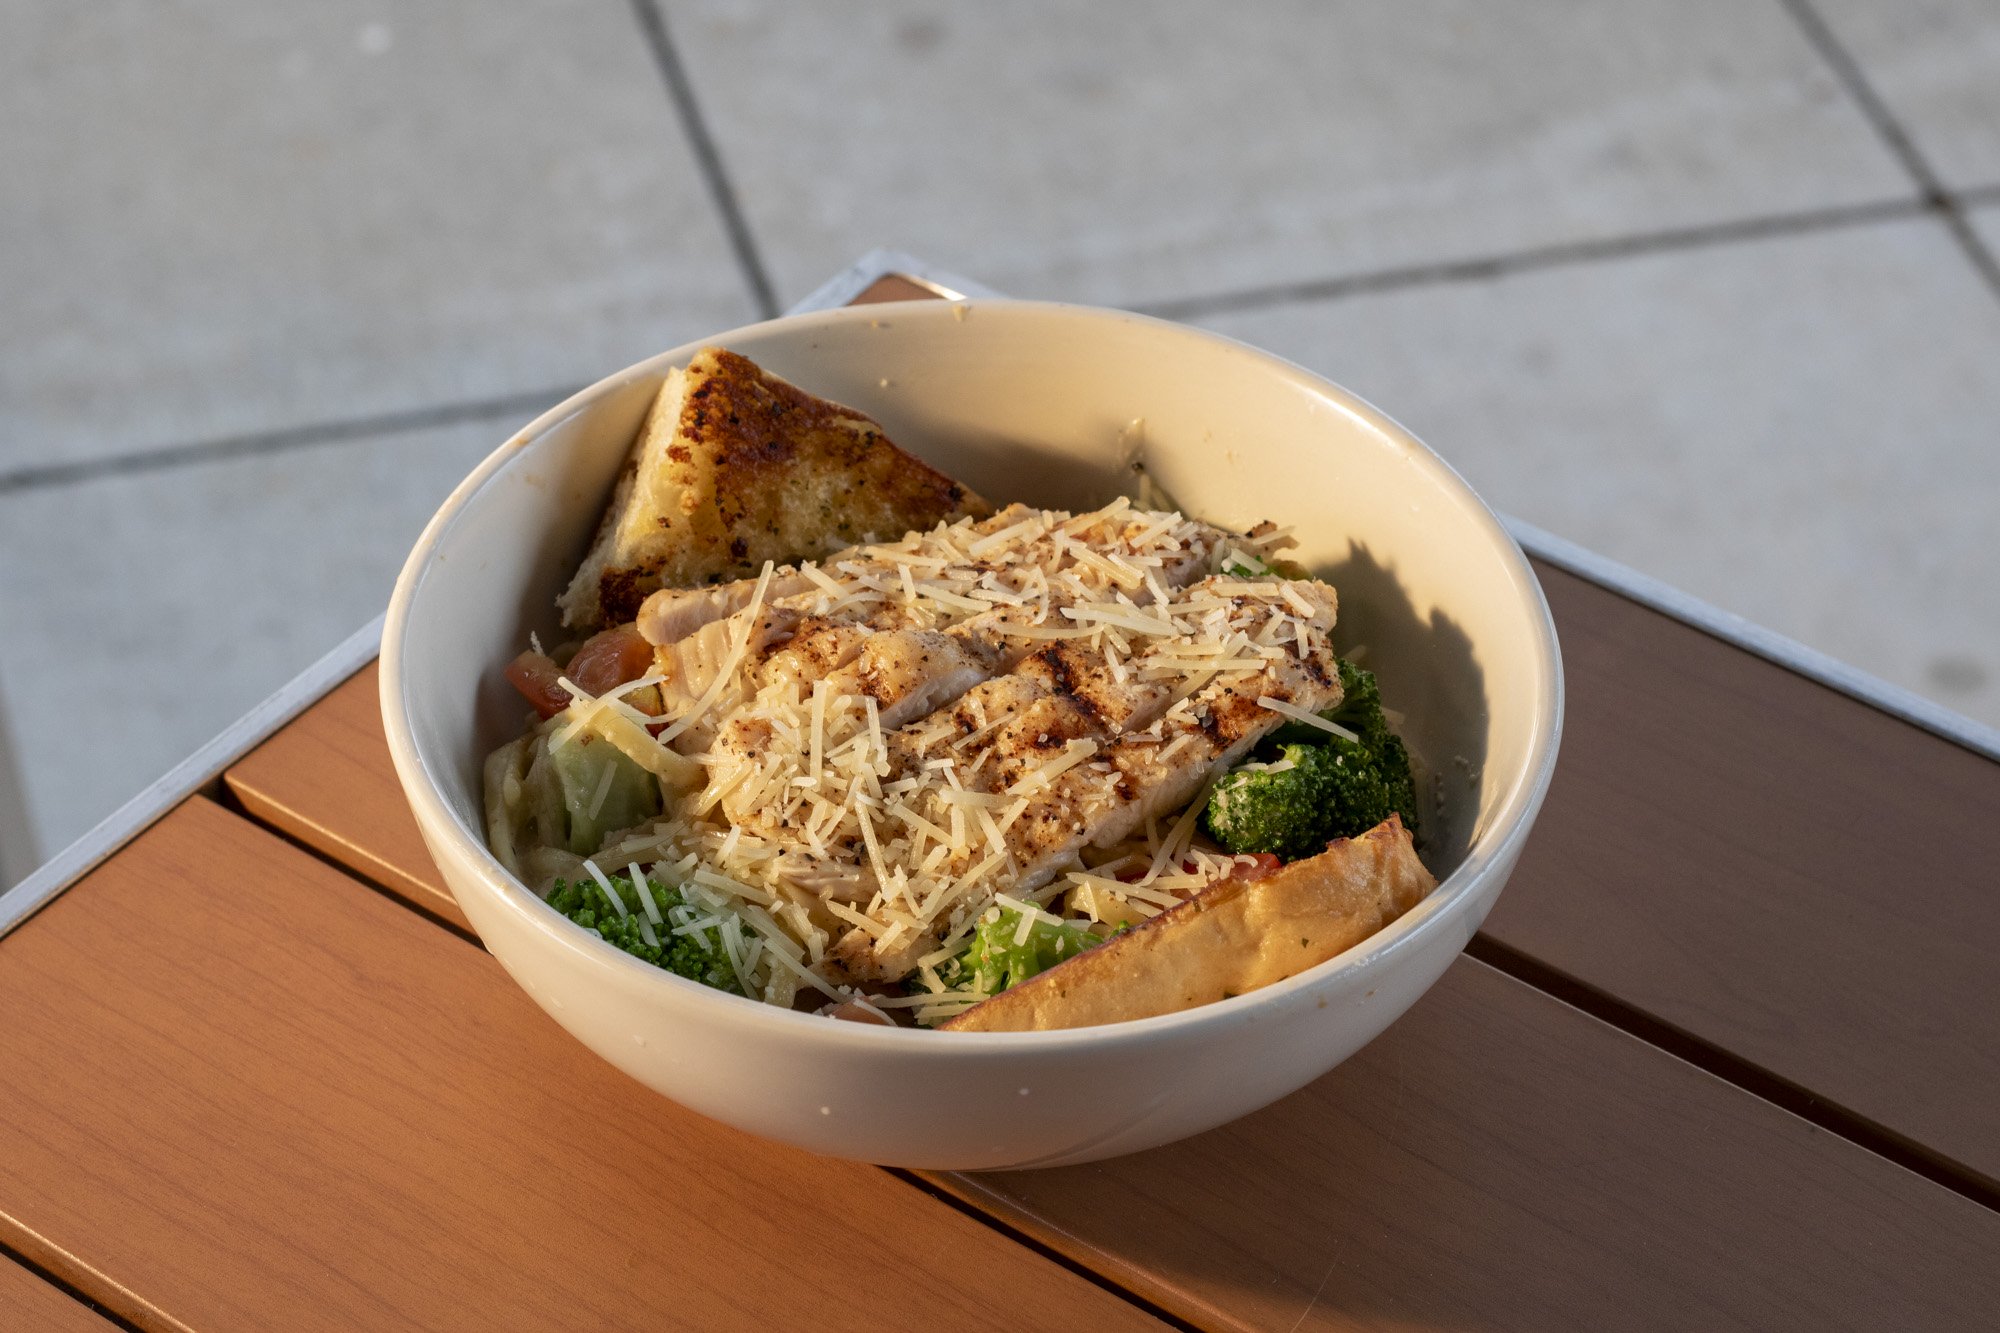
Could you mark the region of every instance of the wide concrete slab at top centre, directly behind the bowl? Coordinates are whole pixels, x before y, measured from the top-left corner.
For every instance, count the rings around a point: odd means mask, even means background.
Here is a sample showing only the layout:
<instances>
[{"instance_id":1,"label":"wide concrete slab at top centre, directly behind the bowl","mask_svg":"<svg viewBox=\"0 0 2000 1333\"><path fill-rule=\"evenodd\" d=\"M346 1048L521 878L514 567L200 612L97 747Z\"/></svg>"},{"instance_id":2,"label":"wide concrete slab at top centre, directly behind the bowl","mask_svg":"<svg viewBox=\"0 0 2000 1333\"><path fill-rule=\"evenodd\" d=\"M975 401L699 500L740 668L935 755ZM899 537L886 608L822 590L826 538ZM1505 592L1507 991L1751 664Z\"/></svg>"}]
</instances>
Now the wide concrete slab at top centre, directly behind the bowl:
<instances>
[{"instance_id":1,"label":"wide concrete slab at top centre, directly behind the bowl","mask_svg":"<svg viewBox=\"0 0 2000 1333\"><path fill-rule=\"evenodd\" d=\"M1774 4L672 0L774 282L1140 304L1908 194Z\"/></svg>"}]
</instances>

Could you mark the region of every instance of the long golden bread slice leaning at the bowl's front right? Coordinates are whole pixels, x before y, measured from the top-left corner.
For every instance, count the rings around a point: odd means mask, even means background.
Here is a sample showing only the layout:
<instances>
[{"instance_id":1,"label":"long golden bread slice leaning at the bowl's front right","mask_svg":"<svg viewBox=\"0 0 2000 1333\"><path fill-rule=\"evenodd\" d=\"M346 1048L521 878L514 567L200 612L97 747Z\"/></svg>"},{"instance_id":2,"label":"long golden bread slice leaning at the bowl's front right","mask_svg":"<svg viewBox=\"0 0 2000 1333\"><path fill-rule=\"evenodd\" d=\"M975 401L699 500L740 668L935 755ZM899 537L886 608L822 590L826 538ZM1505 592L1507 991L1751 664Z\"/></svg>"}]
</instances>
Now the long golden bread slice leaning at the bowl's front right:
<instances>
[{"instance_id":1,"label":"long golden bread slice leaning at the bowl's front right","mask_svg":"<svg viewBox=\"0 0 2000 1333\"><path fill-rule=\"evenodd\" d=\"M1038 1033L1150 1019L1268 987L1368 939L1438 881L1402 821L1264 879L1230 879L942 1027Z\"/></svg>"}]
</instances>

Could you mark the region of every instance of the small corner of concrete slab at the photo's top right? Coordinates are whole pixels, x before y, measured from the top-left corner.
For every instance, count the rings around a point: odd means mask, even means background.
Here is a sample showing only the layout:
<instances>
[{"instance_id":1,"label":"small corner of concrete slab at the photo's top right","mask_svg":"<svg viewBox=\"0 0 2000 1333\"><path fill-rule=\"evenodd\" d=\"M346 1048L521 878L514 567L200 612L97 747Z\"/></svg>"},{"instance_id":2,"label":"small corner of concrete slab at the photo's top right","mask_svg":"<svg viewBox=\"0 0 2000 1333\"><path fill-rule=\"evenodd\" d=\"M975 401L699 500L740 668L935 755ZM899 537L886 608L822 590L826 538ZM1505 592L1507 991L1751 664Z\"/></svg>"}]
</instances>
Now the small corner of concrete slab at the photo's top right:
<instances>
[{"instance_id":1,"label":"small corner of concrete slab at the photo's top right","mask_svg":"<svg viewBox=\"0 0 2000 1333\"><path fill-rule=\"evenodd\" d=\"M2000 184L2000 4L1814 4L1946 186Z\"/></svg>"}]
</instances>

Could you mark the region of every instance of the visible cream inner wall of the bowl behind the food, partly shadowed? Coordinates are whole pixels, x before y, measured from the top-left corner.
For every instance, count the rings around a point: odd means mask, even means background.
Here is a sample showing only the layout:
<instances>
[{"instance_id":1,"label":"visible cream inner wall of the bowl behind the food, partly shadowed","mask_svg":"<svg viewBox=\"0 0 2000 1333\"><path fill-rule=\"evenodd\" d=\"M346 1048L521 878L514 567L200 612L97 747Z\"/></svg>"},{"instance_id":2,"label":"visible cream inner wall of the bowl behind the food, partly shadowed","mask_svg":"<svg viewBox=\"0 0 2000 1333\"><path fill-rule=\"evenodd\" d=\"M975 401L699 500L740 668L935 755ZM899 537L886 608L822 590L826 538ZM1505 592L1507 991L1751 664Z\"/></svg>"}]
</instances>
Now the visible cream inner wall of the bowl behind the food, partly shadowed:
<instances>
[{"instance_id":1,"label":"visible cream inner wall of the bowl behind the food, partly shadowed","mask_svg":"<svg viewBox=\"0 0 2000 1333\"><path fill-rule=\"evenodd\" d=\"M868 412L994 502L1090 508L1126 490L1144 458L1194 516L1294 528L1292 554L1340 592L1336 644L1366 648L1430 775L1424 859L1438 879L1532 819L1562 689L1540 588L1456 472L1354 394L1214 334L1032 302L862 306L712 342ZM696 346L584 390L508 440L404 570L384 636L400 673L392 739L408 739L476 855L480 761L522 721L498 666L530 630L560 638L554 596L654 390Z\"/></svg>"}]
</instances>

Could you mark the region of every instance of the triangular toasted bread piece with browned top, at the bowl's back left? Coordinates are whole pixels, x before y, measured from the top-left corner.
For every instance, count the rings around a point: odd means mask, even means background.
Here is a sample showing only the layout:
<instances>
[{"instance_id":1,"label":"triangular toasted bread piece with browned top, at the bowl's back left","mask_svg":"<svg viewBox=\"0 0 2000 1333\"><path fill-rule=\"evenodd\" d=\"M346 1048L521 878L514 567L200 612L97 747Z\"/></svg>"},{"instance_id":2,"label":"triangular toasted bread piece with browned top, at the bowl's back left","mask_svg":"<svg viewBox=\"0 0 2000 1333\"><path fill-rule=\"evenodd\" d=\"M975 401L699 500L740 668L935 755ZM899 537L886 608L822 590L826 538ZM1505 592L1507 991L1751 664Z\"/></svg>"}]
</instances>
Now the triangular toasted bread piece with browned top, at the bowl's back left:
<instances>
[{"instance_id":1,"label":"triangular toasted bread piece with browned top, at the bowl's back left","mask_svg":"<svg viewBox=\"0 0 2000 1333\"><path fill-rule=\"evenodd\" d=\"M660 586L756 574L990 506L874 420L704 348L662 386L590 554L572 628L618 624Z\"/></svg>"}]
</instances>

